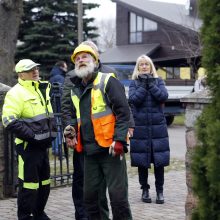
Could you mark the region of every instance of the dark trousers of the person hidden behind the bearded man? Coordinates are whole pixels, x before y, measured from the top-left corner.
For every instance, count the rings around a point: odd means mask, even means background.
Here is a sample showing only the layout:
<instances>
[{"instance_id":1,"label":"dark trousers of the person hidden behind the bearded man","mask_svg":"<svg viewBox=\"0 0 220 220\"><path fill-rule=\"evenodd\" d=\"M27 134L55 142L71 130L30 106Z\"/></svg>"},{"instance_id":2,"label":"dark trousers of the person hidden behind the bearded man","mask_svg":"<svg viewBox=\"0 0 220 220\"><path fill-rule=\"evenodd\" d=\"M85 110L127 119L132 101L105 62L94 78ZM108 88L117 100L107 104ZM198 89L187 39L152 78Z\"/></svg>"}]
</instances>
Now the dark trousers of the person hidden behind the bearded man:
<instances>
[{"instance_id":1,"label":"dark trousers of the person hidden behind the bearded man","mask_svg":"<svg viewBox=\"0 0 220 220\"><path fill-rule=\"evenodd\" d=\"M72 182L72 198L75 206L75 218L80 220L88 218L84 201L83 201L83 181L84 181L84 155L74 151L73 154L73 182ZM106 181L103 181L100 187L99 208L101 210L100 220L109 220L108 201L106 197Z\"/></svg>"}]
</instances>

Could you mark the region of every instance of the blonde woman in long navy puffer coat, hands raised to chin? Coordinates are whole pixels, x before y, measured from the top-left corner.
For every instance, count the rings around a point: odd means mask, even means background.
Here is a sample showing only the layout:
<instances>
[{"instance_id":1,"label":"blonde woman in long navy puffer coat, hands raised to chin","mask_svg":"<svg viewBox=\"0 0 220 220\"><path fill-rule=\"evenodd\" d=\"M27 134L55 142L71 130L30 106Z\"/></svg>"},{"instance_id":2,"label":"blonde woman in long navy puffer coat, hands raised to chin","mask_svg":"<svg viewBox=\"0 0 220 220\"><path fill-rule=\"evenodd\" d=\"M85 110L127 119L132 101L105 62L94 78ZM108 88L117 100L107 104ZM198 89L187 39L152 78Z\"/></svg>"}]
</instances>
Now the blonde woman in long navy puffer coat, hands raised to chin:
<instances>
[{"instance_id":1,"label":"blonde woman in long navy puffer coat, hands raised to chin","mask_svg":"<svg viewBox=\"0 0 220 220\"><path fill-rule=\"evenodd\" d=\"M163 113L168 98L164 81L158 78L152 60L141 55L136 62L129 87L129 104L135 121L130 139L131 166L138 167L142 201L150 203L148 168L154 164L156 203L164 203L164 167L169 165L170 148Z\"/></svg>"}]
</instances>

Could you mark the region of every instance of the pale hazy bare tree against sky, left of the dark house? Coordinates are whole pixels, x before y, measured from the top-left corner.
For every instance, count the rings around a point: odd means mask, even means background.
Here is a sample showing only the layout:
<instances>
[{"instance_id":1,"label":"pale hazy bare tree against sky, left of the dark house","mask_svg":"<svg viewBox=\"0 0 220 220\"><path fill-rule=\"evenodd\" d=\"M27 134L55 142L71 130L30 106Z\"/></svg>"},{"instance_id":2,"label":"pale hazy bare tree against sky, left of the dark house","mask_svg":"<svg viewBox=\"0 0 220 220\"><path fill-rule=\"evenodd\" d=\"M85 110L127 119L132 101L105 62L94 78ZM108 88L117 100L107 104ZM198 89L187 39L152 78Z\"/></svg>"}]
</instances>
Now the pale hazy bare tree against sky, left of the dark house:
<instances>
[{"instance_id":1,"label":"pale hazy bare tree against sky, left of the dark house","mask_svg":"<svg viewBox=\"0 0 220 220\"><path fill-rule=\"evenodd\" d=\"M101 52L112 48L116 43L116 26L115 20L101 20L97 22L98 34L97 44Z\"/></svg>"}]
</instances>

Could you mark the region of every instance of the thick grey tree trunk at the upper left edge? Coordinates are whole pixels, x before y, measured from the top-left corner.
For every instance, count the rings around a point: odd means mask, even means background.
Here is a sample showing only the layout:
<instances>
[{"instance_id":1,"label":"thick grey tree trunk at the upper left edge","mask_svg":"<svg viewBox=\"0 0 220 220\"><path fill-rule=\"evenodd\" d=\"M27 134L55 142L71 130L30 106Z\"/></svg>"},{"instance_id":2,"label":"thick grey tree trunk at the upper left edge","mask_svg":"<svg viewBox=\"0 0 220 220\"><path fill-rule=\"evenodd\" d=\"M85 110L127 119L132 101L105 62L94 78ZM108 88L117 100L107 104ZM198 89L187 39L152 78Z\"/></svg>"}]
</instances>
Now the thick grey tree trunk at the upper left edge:
<instances>
[{"instance_id":1,"label":"thick grey tree trunk at the upper left edge","mask_svg":"<svg viewBox=\"0 0 220 220\"><path fill-rule=\"evenodd\" d=\"M0 1L0 83L14 85L17 76L14 73L14 55L23 0Z\"/></svg>"}]
</instances>

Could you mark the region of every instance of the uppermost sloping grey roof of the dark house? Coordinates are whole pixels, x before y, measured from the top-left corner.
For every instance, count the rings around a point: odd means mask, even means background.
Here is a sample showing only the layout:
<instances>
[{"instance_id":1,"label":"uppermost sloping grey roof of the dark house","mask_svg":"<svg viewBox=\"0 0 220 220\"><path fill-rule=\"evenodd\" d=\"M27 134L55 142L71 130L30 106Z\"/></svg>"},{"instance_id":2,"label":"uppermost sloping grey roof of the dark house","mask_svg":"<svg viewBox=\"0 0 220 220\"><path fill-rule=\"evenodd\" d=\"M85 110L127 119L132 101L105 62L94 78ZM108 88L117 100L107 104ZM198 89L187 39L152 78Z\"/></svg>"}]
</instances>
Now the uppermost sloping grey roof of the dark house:
<instances>
[{"instance_id":1,"label":"uppermost sloping grey roof of the dark house","mask_svg":"<svg viewBox=\"0 0 220 220\"><path fill-rule=\"evenodd\" d=\"M184 5L155 2L151 0L112 0L117 4L131 6L134 9L147 12L160 19L198 31L202 21L198 18L188 15L189 10Z\"/></svg>"}]
</instances>

